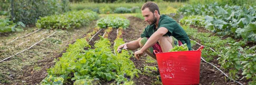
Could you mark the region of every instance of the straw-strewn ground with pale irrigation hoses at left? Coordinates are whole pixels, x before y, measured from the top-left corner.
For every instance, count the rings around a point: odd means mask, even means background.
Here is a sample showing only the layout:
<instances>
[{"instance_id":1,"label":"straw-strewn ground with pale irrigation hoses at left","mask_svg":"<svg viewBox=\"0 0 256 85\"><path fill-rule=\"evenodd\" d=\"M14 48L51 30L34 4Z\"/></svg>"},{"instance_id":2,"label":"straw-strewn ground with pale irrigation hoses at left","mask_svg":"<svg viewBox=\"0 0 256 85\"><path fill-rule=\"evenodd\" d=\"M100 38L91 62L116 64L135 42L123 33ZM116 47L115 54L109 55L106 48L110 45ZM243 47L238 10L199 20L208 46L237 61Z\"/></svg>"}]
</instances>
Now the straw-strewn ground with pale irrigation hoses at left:
<instances>
[{"instance_id":1,"label":"straw-strewn ground with pale irrigation hoses at left","mask_svg":"<svg viewBox=\"0 0 256 85\"><path fill-rule=\"evenodd\" d=\"M65 48L68 47L68 44L75 42L77 38L80 38L83 34L89 32L92 27L94 27L96 21L92 21L89 26L81 27L74 30L61 30L56 32L52 37L45 39L36 46L32 47L29 50L26 50L23 53L20 53L16 56L13 56L10 59L7 59L0 63L0 82L1 84L38 84L41 82L45 76L47 76L46 70L53 66L55 63L54 58L58 58L65 52ZM32 28L31 28L32 29ZM6 41L13 40L16 37L26 35L34 30L29 32L10 34L3 37ZM14 53L20 52L20 50L30 47L35 42L40 39L48 36L53 33L53 30L49 30L40 38L35 38L46 30L40 30L34 34L31 34L28 37L18 39L13 44L17 44L28 39L31 39L30 42L22 44L20 47L14 48L8 52L0 52L1 59L6 58L6 56L13 55ZM2 40L1 39L1 40ZM5 42L6 42L5 41ZM11 44L4 45L8 47ZM3 47L2 47L3 48Z\"/></svg>"}]
</instances>

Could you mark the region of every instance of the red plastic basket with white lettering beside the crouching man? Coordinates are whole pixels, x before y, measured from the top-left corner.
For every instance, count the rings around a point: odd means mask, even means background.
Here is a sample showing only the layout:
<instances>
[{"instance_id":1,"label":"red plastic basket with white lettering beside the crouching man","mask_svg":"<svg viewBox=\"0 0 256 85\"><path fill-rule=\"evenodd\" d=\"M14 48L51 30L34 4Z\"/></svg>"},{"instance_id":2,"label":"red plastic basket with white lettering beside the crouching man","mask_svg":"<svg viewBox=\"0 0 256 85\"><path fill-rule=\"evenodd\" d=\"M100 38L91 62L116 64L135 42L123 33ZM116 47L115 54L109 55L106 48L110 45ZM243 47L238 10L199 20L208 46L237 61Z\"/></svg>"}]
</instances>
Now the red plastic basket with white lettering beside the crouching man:
<instances>
[{"instance_id":1,"label":"red plastic basket with white lettering beside the crouching man","mask_svg":"<svg viewBox=\"0 0 256 85\"><path fill-rule=\"evenodd\" d=\"M159 53L154 50L163 85L199 84L200 58L197 50Z\"/></svg>"}]
</instances>

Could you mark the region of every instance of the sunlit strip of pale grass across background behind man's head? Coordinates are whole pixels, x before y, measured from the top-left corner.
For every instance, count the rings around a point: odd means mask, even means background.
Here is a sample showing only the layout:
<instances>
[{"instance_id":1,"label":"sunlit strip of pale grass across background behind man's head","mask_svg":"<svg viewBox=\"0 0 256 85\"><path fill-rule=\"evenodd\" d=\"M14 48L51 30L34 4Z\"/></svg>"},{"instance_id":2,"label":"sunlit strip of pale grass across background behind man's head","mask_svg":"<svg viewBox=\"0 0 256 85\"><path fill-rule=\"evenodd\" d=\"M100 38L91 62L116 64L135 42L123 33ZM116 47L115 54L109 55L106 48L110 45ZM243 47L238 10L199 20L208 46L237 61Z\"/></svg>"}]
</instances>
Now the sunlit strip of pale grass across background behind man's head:
<instances>
[{"instance_id":1,"label":"sunlit strip of pale grass across background behind man's head","mask_svg":"<svg viewBox=\"0 0 256 85\"><path fill-rule=\"evenodd\" d=\"M156 2L159 6L160 13L161 14L166 14L166 13L175 13L176 10L179 7L182 7L184 4L183 2ZM118 7L126 7L126 8L132 8L132 7L142 7L144 2L139 2L139 3L93 3L93 2L87 2L87 3L71 3L70 4L70 9L71 10L82 10L82 9L96 9L99 8L101 9L107 9L110 8L111 11L115 10L115 8ZM136 12L140 13L140 12Z\"/></svg>"}]
</instances>

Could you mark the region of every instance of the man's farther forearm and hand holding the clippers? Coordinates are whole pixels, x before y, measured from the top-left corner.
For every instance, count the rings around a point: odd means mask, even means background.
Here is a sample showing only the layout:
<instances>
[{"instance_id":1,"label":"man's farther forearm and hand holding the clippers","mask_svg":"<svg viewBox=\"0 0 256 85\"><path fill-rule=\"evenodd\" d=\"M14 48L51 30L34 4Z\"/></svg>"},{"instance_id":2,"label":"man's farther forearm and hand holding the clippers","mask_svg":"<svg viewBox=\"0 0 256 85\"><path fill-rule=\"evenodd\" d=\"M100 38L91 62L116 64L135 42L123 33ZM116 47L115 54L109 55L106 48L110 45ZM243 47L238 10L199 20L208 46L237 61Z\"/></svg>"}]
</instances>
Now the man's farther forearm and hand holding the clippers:
<instances>
[{"instance_id":1,"label":"man's farther forearm and hand holding the clippers","mask_svg":"<svg viewBox=\"0 0 256 85\"><path fill-rule=\"evenodd\" d=\"M140 45L139 45L140 39L142 39L142 38L140 37L139 39L137 39L137 40L135 40L135 41L131 41L131 42L124 43L124 44L120 45L120 46L117 48L117 52L120 50L119 48L122 48L123 46L124 46L124 48L127 47L127 49L129 49L129 50L135 50L135 49L140 48ZM127 50L127 49L126 49L126 50Z\"/></svg>"}]
</instances>

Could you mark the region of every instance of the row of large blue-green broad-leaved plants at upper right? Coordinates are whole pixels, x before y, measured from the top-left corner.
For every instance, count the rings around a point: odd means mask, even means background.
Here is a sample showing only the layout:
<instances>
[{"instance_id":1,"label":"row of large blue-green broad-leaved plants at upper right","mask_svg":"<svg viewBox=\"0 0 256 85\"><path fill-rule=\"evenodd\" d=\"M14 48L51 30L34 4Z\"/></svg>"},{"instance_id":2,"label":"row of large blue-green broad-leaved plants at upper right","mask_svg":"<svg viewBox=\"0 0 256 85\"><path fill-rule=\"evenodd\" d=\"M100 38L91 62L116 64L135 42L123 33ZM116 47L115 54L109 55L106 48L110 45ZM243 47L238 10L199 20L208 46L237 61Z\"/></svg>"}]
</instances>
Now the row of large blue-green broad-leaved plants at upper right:
<instances>
[{"instance_id":1,"label":"row of large blue-green broad-leaved plants at upper right","mask_svg":"<svg viewBox=\"0 0 256 85\"><path fill-rule=\"evenodd\" d=\"M199 18L197 25L217 33L218 35L232 35L242 37L246 41L256 41L256 6L229 6L220 7L214 4L186 5L179 9L179 13L189 16L188 20ZM205 17L204 17L205 16ZM196 18L196 19L195 19ZM186 22L186 20L184 20Z\"/></svg>"}]
</instances>

